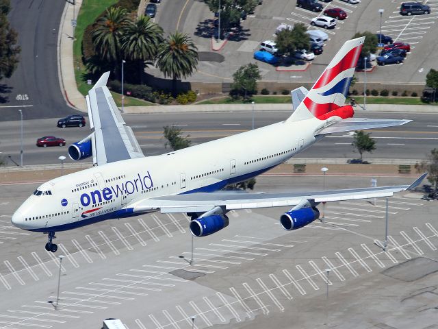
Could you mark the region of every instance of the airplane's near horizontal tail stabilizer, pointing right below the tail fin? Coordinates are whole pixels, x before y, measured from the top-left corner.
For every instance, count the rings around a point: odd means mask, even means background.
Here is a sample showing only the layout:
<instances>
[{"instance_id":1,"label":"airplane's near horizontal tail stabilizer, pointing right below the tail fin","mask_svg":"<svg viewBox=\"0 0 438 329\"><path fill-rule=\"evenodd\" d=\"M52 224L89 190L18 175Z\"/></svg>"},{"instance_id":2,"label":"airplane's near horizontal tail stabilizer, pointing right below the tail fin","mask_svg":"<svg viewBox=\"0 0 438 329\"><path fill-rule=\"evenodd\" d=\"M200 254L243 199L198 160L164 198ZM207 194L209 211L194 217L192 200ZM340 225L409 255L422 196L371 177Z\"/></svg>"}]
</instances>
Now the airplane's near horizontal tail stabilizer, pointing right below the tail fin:
<instances>
[{"instance_id":1,"label":"airplane's near horizontal tail stabilizer, pointing right below the tail fin","mask_svg":"<svg viewBox=\"0 0 438 329\"><path fill-rule=\"evenodd\" d=\"M348 118L323 127L316 135L334 134L336 132L352 132L355 130L394 127L404 125L412 120Z\"/></svg>"}]
</instances>

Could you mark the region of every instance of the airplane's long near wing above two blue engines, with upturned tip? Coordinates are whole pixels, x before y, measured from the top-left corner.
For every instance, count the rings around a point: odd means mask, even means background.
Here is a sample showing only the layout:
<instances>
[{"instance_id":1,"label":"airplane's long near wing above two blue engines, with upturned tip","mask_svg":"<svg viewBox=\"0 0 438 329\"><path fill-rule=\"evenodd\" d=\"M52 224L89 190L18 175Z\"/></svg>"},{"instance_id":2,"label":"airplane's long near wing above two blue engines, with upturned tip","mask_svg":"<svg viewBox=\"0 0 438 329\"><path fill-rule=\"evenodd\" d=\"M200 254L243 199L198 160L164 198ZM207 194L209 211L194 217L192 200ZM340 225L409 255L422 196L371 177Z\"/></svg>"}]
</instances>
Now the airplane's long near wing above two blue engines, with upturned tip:
<instances>
[{"instance_id":1,"label":"airplane's long near wing above two blue engines, with upturned tip","mask_svg":"<svg viewBox=\"0 0 438 329\"><path fill-rule=\"evenodd\" d=\"M391 197L396 192L409 191L418 186L426 177L421 175L411 185L381 186L370 188L350 188L335 191L316 191L306 193L191 193L153 197L133 204L133 211L140 212L159 209L160 212L206 212L221 206L226 210L271 208L296 206L303 200L333 202L344 200L370 199L374 197Z\"/></svg>"}]
</instances>

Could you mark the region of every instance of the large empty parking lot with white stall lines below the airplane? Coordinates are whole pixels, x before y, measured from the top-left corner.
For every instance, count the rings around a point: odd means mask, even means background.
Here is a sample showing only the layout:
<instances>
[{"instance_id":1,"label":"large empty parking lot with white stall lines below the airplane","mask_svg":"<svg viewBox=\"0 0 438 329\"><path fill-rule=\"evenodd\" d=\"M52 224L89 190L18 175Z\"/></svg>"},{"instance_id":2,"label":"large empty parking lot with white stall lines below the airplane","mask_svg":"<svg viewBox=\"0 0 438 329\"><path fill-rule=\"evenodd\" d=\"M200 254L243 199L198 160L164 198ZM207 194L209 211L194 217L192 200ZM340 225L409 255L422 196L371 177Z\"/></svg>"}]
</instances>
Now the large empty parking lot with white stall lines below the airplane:
<instances>
[{"instance_id":1,"label":"large empty parking lot with white stall lines below the airplane","mask_svg":"<svg viewBox=\"0 0 438 329\"><path fill-rule=\"evenodd\" d=\"M410 181L382 177L379 184ZM326 180L327 188L368 184L359 176ZM320 177L266 177L257 185L321 188ZM1 188L8 195L0 213L2 328L100 328L107 317L129 329L437 322L437 208L415 195L389 198L388 252L375 244L385 236L385 199L377 199L327 204L324 223L295 232L279 226L286 209L230 212L228 228L194 239L192 259L187 217L162 214L60 232L53 255L42 234L16 235L22 231L10 226L34 186Z\"/></svg>"}]
</instances>

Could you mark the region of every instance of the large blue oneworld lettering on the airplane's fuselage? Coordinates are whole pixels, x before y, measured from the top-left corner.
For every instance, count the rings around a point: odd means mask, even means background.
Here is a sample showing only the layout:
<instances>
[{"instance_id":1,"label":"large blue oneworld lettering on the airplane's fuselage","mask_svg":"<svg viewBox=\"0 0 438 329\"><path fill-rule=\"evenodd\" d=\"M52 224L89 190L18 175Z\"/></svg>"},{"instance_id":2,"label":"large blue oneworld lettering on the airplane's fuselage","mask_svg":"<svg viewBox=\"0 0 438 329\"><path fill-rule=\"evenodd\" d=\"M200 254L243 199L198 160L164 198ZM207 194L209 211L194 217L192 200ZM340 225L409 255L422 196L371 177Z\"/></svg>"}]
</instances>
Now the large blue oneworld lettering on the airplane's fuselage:
<instances>
[{"instance_id":1,"label":"large blue oneworld lettering on the airplane's fuselage","mask_svg":"<svg viewBox=\"0 0 438 329\"><path fill-rule=\"evenodd\" d=\"M86 207L90 204L98 204L99 202L102 202L102 199L110 201L113 197L118 197L119 195L124 194L129 195L149 188L153 188L151 173L147 171L147 174L144 176L140 176L140 173L138 173L137 178L127 180L122 184L105 187L103 190L91 191L90 193L82 193L81 204Z\"/></svg>"}]
</instances>

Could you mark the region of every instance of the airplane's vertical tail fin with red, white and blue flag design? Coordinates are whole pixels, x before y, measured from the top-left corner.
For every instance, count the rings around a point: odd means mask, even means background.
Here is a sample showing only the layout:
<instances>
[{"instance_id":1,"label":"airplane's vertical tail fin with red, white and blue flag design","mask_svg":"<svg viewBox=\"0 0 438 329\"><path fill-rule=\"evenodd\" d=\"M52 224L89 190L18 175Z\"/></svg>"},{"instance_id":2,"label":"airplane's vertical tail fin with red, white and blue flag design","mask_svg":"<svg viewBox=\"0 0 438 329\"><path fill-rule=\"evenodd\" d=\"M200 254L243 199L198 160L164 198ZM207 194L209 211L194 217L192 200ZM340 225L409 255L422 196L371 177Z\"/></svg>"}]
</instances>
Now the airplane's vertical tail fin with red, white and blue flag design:
<instances>
[{"instance_id":1,"label":"airplane's vertical tail fin with red, white and blue flag design","mask_svg":"<svg viewBox=\"0 0 438 329\"><path fill-rule=\"evenodd\" d=\"M350 88L364 40L365 37L361 37L344 43L309 90L305 99L296 108L290 117L291 121L309 119L310 117L327 119L327 117L331 117L329 112L345 106L348 88Z\"/></svg>"}]
</instances>

